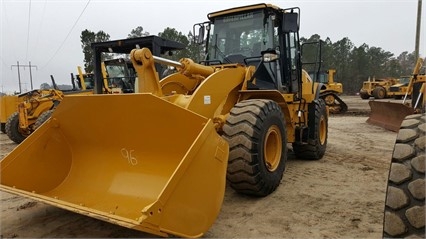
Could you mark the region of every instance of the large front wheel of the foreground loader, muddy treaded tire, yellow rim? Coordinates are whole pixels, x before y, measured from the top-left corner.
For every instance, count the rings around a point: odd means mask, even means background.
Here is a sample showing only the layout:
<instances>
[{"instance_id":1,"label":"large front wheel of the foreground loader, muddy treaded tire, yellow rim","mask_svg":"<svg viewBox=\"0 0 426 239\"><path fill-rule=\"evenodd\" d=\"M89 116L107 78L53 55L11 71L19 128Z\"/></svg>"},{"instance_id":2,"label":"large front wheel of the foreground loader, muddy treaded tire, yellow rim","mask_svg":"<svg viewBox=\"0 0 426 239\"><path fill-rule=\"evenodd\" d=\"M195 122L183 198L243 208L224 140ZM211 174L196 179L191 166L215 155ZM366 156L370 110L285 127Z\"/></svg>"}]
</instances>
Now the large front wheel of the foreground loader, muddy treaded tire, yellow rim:
<instances>
[{"instance_id":1,"label":"large front wheel of the foreground loader, muddy treaded tire, yellow rim","mask_svg":"<svg viewBox=\"0 0 426 239\"><path fill-rule=\"evenodd\" d=\"M281 182L287 161L287 133L280 106L253 99L236 104L223 126L229 143L226 178L238 193L267 196Z\"/></svg>"}]
</instances>

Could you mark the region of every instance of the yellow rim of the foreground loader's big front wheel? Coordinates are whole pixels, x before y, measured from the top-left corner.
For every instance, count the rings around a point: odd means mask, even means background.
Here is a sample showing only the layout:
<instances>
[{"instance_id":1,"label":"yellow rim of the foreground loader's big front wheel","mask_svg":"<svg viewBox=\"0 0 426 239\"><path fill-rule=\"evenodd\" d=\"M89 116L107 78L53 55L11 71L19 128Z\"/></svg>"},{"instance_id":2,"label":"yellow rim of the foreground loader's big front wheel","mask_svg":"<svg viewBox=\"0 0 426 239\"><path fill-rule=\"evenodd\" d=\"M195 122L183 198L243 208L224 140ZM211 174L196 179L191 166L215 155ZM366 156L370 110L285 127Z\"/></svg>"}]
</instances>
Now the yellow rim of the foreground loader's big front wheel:
<instances>
[{"instance_id":1,"label":"yellow rim of the foreground loader's big front wheel","mask_svg":"<svg viewBox=\"0 0 426 239\"><path fill-rule=\"evenodd\" d=\"M282 139L278 126L273 125L269 127L265 136L263 149L266 168L270 172L273 172L277 169L281 161Z\"/></svg>"}]
</instances>

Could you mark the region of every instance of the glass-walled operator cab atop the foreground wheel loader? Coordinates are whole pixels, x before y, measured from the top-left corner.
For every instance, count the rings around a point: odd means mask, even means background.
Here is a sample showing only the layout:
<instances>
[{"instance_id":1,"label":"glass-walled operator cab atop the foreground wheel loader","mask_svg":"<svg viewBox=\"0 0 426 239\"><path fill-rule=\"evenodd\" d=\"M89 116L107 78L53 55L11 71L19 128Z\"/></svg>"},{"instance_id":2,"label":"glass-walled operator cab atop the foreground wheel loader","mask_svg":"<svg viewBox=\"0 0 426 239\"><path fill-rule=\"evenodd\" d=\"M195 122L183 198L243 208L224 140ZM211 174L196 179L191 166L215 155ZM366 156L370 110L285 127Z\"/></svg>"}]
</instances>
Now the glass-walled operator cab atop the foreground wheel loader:
<instances>
[{"instance_id":1,"label":"glass-walled operator cab atop the foreground wheel loader","mask_svg":"<svg viewBox=\"0 0 426 239\"><path fill-rule=\"evenodd\" d=\"M206 44L206 65L242 64L256 67L249 89L297 93L301 85L299 9L270 4L232 8L208 15L199 27ZM207 37L204 40L204 32Z\"/></svg>"}]
</instances>

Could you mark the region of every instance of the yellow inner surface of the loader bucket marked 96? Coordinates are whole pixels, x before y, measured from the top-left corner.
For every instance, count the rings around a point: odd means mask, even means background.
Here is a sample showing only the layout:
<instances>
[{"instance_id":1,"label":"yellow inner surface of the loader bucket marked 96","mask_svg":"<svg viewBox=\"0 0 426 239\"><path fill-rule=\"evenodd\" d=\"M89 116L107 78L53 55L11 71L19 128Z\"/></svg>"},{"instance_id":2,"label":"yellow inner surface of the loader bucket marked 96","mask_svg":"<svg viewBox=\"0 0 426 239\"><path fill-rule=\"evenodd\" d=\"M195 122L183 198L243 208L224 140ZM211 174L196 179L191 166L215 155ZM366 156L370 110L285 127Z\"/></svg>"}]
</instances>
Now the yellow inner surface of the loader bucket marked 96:
<instances>
[{"instance_id":1,"label":"yellow inner surface of the loader bucket marked 96","mask_svg":"<svg viewBox=\"0 0 426 239\"><path fill-rule=\"evenodd\" d=\"M206 122L151 94L67 96L1 161L1 184L135 220Z\"/></svg>"}]
</instances>

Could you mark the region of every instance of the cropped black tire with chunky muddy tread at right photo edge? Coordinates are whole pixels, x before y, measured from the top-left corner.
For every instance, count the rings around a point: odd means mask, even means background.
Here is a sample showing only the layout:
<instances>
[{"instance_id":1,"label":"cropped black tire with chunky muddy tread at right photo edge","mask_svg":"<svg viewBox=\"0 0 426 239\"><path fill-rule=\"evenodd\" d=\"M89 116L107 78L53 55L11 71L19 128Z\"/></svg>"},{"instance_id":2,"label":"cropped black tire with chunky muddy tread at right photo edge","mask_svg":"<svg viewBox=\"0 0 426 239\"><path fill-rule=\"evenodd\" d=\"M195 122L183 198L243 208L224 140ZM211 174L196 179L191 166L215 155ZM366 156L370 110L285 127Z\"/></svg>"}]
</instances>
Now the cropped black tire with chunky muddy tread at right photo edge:
<instances>
[{"instance_id":1,"label":"cropped black tire with chunky muddy tread at right photo edge","mask_svg":"<svg viewBox=\"0 0 426 239\"><path fill-rule=\"evenodd\" d=\"M388 176L383 237L425 238L426 114L407 116Z\"/></svg>"}]
</instances>

